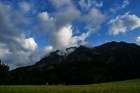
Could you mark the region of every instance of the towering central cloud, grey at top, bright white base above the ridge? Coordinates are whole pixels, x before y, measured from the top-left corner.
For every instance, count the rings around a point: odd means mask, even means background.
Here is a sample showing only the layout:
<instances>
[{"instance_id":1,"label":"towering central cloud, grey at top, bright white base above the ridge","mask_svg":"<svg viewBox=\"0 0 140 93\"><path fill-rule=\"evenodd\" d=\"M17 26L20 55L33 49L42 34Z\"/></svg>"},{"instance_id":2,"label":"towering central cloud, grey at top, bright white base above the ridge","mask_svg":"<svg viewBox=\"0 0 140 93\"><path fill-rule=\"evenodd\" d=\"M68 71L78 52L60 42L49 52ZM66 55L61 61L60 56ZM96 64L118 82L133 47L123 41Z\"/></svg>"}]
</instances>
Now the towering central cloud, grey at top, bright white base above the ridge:
<instances>
[{"instance_id":1,"label":"towering central cloud, grey at top, bright white base above the ridge","mask_svg":"<svg viewBox=\"0 0 140 93\"><path fill-rule=\"evenodd\" d=\"M74 44L72 26L73 20L80 16L71 0L51 0L56 12L49 14L47 11L39 13L41 29L46 33L49 45L56 49L63 49ZM51 16L50 16L51 15Z\"/></svg>"}]
</instances>

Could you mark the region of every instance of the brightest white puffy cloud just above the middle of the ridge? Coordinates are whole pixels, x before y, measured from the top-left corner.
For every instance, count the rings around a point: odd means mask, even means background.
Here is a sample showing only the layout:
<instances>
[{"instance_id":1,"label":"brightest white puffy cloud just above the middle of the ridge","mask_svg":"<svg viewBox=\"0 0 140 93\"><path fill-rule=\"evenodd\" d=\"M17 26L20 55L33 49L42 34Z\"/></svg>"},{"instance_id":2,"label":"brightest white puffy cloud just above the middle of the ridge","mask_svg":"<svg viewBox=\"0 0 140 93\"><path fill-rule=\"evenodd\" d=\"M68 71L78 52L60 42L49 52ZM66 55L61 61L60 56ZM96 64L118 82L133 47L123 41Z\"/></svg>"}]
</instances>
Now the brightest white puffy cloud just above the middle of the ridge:
<instances>
[{"instance_id":1,"label":"brightest white puffy cloud just above the middle of the ridge","mask_svg":"<svg viewBox=\"0 0 140 93\"><path fill-rule=\"evenodd\" d=\"M57 32L54 33L53 38L54 40L52 45L56 49L64 49L71 46L76 46L71 25L66 25L60 28Z\"/></svg>"}]
</instances>

